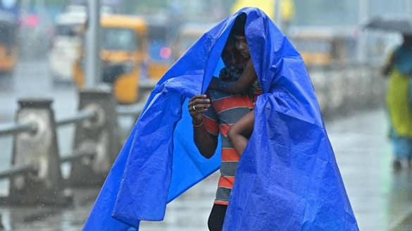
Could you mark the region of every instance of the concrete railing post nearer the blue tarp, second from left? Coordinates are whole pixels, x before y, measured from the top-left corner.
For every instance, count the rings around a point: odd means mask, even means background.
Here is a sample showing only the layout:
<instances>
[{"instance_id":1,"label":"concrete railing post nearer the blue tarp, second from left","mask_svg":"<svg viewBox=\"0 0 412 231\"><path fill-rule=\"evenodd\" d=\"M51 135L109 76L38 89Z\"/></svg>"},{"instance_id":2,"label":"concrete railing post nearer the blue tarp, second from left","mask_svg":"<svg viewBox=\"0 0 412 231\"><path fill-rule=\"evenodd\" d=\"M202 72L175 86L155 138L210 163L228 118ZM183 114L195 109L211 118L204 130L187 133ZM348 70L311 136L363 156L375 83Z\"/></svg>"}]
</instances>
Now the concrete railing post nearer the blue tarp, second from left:
<instances>
[{"instance_id":1,"label":"concrete railing post nearer the blue tarp, second from left","mask_svg":"<svg viewBox=\"0 0 412 231\"><path fill-rule=\"evenodd\" d=\"M93 112L96 118L77 123L74 151L94 156L73 161L70 184L101 185L120 151L116 102L112 92L104 89L82 90L79 100L79 110Z\"/></svg>"}]
</instances>

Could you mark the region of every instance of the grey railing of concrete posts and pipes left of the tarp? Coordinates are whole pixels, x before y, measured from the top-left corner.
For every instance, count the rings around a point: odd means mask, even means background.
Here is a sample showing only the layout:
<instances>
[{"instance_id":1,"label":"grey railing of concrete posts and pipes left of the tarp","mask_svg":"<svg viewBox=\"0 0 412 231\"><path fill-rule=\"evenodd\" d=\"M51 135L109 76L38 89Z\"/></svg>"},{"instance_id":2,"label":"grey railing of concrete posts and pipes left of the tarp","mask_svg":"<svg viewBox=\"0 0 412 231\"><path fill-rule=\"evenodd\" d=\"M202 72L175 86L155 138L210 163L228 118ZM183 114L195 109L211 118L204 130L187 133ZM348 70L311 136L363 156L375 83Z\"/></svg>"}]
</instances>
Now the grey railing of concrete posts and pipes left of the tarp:
<instances>
[{"instance_id":1,"label":"grey railing of concrete posts and pipes left of the tarp","mask_svg":"<svg viewBox=\"0 0 412 231\"><path fill-rule=\"evenodd\" d=\"M69 184L66 186L91 186L104 181L121 147L113 120L118 116L136 118L144 104L116 108L111 92L99 89L82 91L79 99L83 109L58 120L50 99L20 99L17 122L0 124L0 137L14 138L12 166L0 170L0 180L11 180L9 203L58 203L65 187L61 182ZM57 129L65 125L75 126L74 146L70 155L61 156ZM19 136L23 132L30 135ZM67 163L71 170L63 179L61 165Z\"/></svg>"}]
</instances>

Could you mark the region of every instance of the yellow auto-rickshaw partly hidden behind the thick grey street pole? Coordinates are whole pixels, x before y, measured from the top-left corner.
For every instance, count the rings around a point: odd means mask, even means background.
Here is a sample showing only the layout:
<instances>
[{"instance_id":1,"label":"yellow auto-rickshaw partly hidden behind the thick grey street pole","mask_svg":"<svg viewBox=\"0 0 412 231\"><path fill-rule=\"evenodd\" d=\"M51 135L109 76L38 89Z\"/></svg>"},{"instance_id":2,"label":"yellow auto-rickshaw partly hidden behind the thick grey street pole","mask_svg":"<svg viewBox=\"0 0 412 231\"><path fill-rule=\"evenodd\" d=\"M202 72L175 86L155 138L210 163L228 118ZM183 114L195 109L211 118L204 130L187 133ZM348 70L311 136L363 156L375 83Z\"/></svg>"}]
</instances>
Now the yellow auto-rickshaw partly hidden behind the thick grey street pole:
<instances>
[{"instance_id":1,"label":"yellow auto-rickshaw partly hidden behind the thick grey street pole","mask_svg":"<svg viewBox=\"0 0 412 231\"><path fill-rule=\"evenodd\" d=\"M101 82L113 87L120 104L139 99L139 80L146 58L146 23L127 15L101 16ZM85 85L84 57L75 65L75 83Z\"/></svg>"}]
</instances>

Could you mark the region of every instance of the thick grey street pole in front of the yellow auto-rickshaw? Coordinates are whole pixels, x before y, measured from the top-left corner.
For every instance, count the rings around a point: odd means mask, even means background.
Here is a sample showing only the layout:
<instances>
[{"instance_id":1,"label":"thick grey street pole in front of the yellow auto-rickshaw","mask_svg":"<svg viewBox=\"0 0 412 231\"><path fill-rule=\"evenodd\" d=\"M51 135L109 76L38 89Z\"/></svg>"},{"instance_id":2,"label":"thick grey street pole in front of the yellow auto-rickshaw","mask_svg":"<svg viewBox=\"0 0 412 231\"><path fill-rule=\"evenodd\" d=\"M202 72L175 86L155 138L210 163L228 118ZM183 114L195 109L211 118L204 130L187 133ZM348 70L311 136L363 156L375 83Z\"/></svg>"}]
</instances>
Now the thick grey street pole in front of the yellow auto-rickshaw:
<instances>
[{"instance_id":1,"label":"thick grey street pole in front of the yellow auto-rickshaw","mask_svg":"<svg viewBox=\"0 0 412 231\"><path fill-rule=\"evenodd\" d=\"M96 87L101 80L100 0L89 0L88 3L85 87L90 88Z\"/></svg>"}]
</instances>

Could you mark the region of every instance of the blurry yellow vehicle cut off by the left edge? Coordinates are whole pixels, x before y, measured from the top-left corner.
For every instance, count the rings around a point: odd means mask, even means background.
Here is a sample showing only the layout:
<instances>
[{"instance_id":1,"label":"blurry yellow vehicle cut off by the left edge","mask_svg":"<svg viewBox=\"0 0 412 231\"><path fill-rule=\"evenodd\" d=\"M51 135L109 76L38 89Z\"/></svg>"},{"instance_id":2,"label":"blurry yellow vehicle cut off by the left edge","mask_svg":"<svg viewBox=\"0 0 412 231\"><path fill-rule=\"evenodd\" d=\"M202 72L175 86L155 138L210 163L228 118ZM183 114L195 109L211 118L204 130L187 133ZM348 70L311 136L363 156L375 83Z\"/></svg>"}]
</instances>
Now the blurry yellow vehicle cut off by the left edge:
<instances>
[{"instance_id":1,"label":"blurry yellow vehicle cut off by the left edge","mask_svg":"<svg viewBox=\"0 0 412 231\"><path fill-rule=\"evenodd\" d=\"M11 75L17 61L17 23L14 15L0 11L0 75Z\"/></svg>"}]
</instances>

